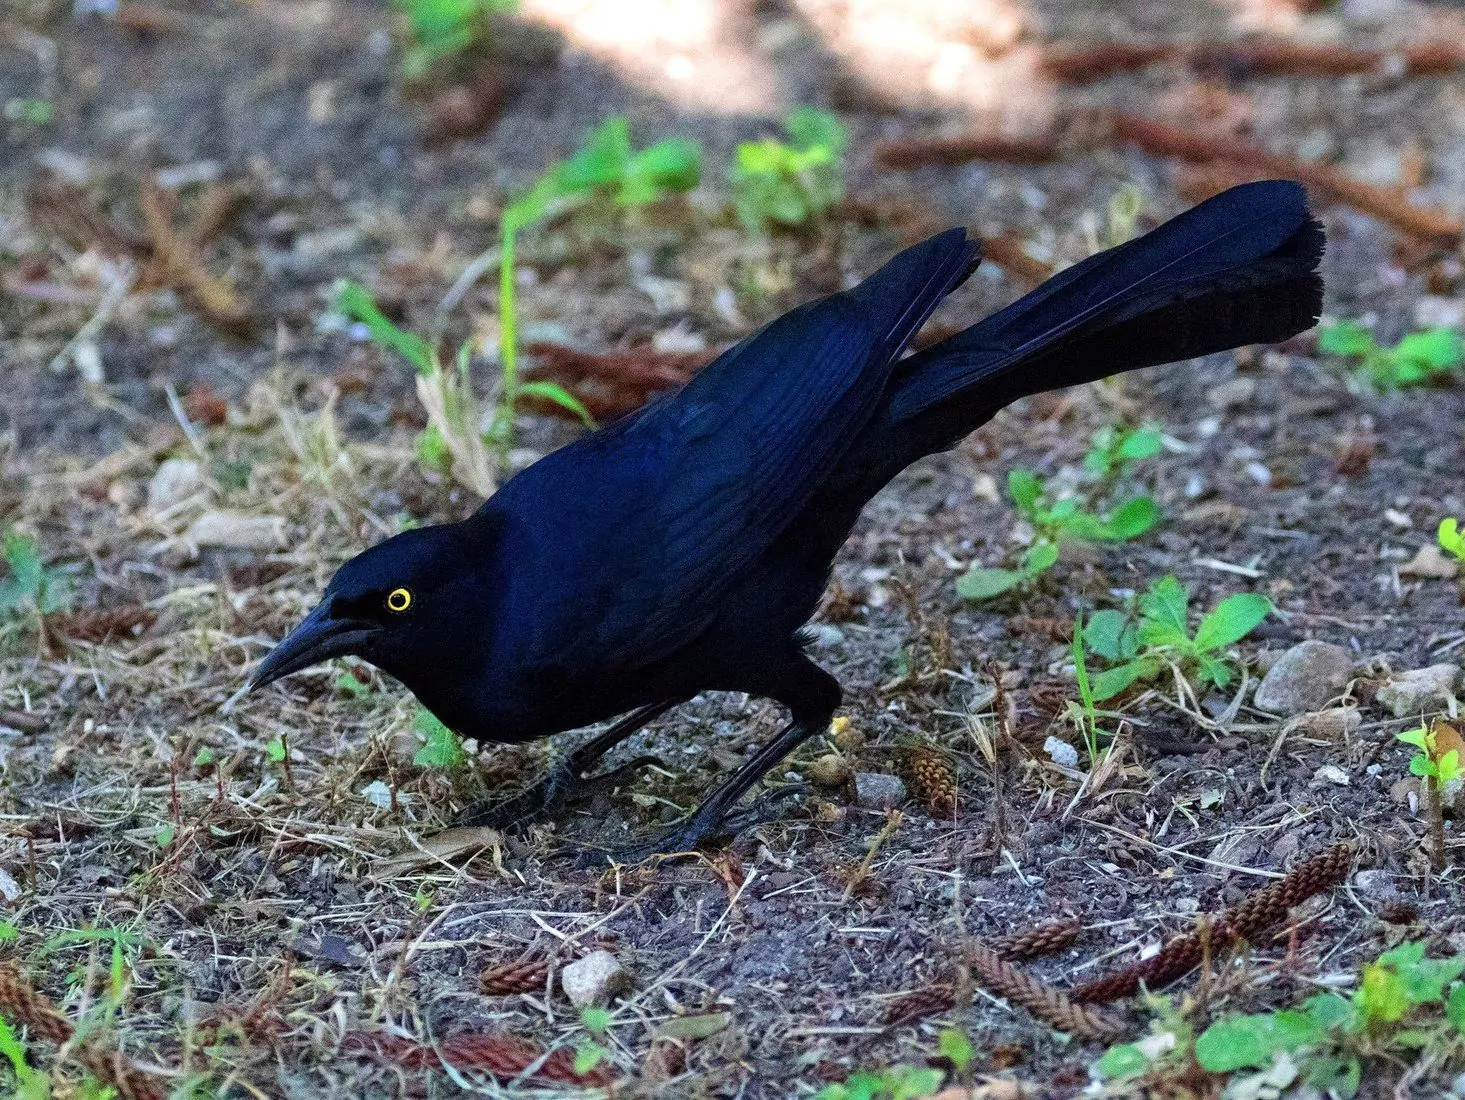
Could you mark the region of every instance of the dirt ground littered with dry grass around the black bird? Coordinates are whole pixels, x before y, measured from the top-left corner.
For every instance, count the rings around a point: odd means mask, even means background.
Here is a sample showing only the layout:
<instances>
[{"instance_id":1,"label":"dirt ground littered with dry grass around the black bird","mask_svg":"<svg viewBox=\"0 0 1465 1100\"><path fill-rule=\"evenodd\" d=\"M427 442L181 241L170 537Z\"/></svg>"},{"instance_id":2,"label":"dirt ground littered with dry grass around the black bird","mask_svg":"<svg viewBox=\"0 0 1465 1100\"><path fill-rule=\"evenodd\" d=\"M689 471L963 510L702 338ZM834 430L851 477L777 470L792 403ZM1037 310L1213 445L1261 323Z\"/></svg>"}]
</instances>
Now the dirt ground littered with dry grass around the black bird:
<instances>
[{"instance_id":1,"label":"dirt ground littered with dry grass around the black bird","mask_svg":"<svg viewBox=\"0 0 1465 1100\"><path fill-rule=\"evenodd\" d=\"M815 624L812 652L847 691L838 748L851 769L888 773L905 773L913 746L938 748L958 781L954 816L812 788L703 858L576 870L567 848L677 817L781 715L700 697L621 750L655 768L523 833L442 841L464 804L535 775L544 747L488 747L453 775L418 768L412 699L365 666L226 706L335 565L404 521L476 504L415 460L410 374L331 324L331 286L357 280L431 330L497 242L505 201L604 117L626 114L637 142L696 138L703 185L614 233L529 237L524 338L712 349L870 271L920 226L1009 234L1064 265L1102 240L1125 185L1144 198L1140 228L1200 186L1193 168L1121 142L883 168L876 142L895 138L1033 135L1072 108L1110 108L1405 183L1411 202L1465 215L1458 66L1269 76L1162 63L1083 85L1042 66L1053 44L1253 32L1387 54L1459 42L1458 6L526 0L485 63L501 108L464 139L434 139L441 104L404 88L393 28L387 6L352 0L125 1L117 18L9 0L0 13L0 103L54 105L50 122L0 125L0 516L76 592L54 637L10 639L0 658L0 893L15 933L0 952L67 1015L95 1018L116 943L126 989L98 1043L177 1096L598 1096L434 1050L464 1036L582 1046L552 977L502 995L481 975L604 948L634 981L598 1038L595 1072L615 1096L812 1096L860 1066L926 1065L954 1024L990 1077L980 1094L1075 1096L1103 1043L973 995L973 940L1077 921L1069 946L1028 964L1072 986L1348 841L1343 888L1291 934L1178 983L1175 1002L1203 1024L1351 989L1406 934L1465 951L1465 845L1446 822L1449 867L1431 873L1401 785L1409 751L1393 740L1418 716L1395 719L1374 697L1393 672L1459 662L1459 589L1401 565L1465 511L1465 394L1360 391L1311 337L1028 400L867 508ZM804 103L850 127L848 201L816 231L750 239L725 211L724 166ZM160 173L179 195L164 211L179 262L207 280L157 275L142 185ZM237 202L190 237L220 187ZM1386 343L1461 327L1458 240L1421 243L1324 193L1314 205L1330 316L1365 318ZM152 242L151 267L138 240ZM201 283L224 287L237 315L217 302L211 315ZM491 283L447 315L450 343L492 346ZM970 324L1028 286L984 265L935 324ZM1071 479L1116 422L1165 432L1135 475L1165 521L1065 552L1021 596L958 601L961 570L1020 551L1006 472ZM576 431L524 415L513 460ZM167 458L196 460L201 476L149 507ZM252 517L255 545L195 545L196 521L220 513ZM1197 608L1242 590L1275 601L1238 647L1248 688L1294 643L1346 646L1357 728L1320 735L1234 700L1235 685L1197 702L1157 683L1127 699L1102 775L1056 763L1046 738L1078 743L1061 718L1077 697L1065 628L1165 573ZM806 778L829 751L810 746L771 778ZM902 995L941 983L955 989L945 1003L888 1022ZM1146 1033L1141 1000L1112 1011ZM50 1065L54 1050L29 1036L32 1060ZM1462 1068L1377 1059L1364 1094L1442 1096ZM59 1063L53 1094L88 1096L81 1081L76 1062Z\"/></svg>"}]
</instances>

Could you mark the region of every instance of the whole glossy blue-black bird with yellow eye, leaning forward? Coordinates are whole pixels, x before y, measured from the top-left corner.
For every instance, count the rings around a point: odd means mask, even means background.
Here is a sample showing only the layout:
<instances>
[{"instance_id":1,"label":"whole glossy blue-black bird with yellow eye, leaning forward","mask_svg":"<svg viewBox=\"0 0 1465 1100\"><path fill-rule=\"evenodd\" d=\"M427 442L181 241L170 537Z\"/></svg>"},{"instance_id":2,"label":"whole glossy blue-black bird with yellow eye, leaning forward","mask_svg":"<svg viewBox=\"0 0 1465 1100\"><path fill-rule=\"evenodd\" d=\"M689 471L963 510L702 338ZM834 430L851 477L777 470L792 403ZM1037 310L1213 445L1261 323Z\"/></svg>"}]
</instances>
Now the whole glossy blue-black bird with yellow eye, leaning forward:
<instances>
[{"instance_id":1,"label":"whole glossy blue-black bird with yellow eye, leaning forward","mask_svg":"<svg viewBox=\"0 0 1465 1100\"><path fill-rule=\"evenodd\" d=\"M546 794L699 691L781 702L784 734L655 845L690 847L838 706L798 631L870 497L1023 395L1311 327L1321 252L1298 185L1234 187L902 359L977 264L964 231L935 236L530 466L470 519L349 561L253 683L355 653L479 741L630 712Z\"/></svg>"}]
</instances>

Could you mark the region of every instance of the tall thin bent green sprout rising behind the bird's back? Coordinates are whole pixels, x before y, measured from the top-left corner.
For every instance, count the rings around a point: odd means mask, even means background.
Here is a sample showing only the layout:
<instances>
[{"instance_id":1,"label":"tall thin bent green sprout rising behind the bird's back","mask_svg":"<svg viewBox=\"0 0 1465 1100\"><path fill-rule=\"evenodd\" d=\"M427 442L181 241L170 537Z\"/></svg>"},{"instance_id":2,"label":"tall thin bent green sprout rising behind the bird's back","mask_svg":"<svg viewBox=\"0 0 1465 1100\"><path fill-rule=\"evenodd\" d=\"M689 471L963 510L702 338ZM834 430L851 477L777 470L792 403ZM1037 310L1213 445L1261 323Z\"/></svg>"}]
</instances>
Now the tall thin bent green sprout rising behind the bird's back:
<instances>
[{"instance_id":1,"label":"tall thin bent green sprout rising behind the bird's back","mask_svg":"<svg viewBox=\"0 0 1465 1100\"><path fill-rule=\"evenodd\" d=\"M510 438L519 397L544 397L564 404L563 397L568 395L551 382L519 381L519 280L514 270L519 234L551 212L596 196L608 198L617 208L646 207L668 195L691 190L700 177L702 151L694 141L668 138L636 152L631 149L630 123L624 116L615 116L590 135L585 148L549 168L508 205L500 221L498 357L504 398L494 417L497 438Z\"/></svg>"}]
</instances>

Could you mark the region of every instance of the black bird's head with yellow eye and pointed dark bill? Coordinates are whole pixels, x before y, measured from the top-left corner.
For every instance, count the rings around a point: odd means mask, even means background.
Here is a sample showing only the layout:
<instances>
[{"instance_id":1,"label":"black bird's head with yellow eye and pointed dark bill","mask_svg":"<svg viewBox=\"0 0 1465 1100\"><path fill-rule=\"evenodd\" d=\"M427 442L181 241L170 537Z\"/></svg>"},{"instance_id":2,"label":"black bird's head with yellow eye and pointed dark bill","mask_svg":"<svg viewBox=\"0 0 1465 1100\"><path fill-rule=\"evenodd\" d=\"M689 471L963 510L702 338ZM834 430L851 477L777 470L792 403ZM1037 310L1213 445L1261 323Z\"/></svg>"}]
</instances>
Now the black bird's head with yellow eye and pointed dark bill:
<instances>
[{"instance_id":1,"label":"black bird's head with yellow eye and pointed dark bill","mask_svg":"<svg viewBox=\"0 0 1465 1100\"><path fill-rule=\"evenodd\" d=\"M249 677L262 687L337 656L357 656L403 678L425 653L451 646L464 545L457 524L406 530L341 565L315 611Z\"/></svg>"}]
</instances>

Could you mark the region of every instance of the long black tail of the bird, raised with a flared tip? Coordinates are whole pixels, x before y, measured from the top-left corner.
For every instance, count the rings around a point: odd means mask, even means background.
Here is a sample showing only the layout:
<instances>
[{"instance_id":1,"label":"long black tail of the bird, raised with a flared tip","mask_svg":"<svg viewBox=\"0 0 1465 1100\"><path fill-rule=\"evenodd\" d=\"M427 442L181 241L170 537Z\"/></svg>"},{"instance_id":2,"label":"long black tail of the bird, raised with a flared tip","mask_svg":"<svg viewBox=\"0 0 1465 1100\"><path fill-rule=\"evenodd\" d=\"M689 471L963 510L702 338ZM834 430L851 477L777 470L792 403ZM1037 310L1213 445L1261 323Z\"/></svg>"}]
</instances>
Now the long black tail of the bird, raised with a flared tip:
<instances>
[{"instance_id":1,"label":"long black tail of the bird, raised with a flared tip","mask_svg":"<svg viewBox=\"0 0 1465 1100\"><path fill-rule=\"evenodd\" d=\"M1020 397L1310 328L1323 227L1301 185L1232 187L902 360L863 448L885 479Z\"/></svg>"}]
</instances>

